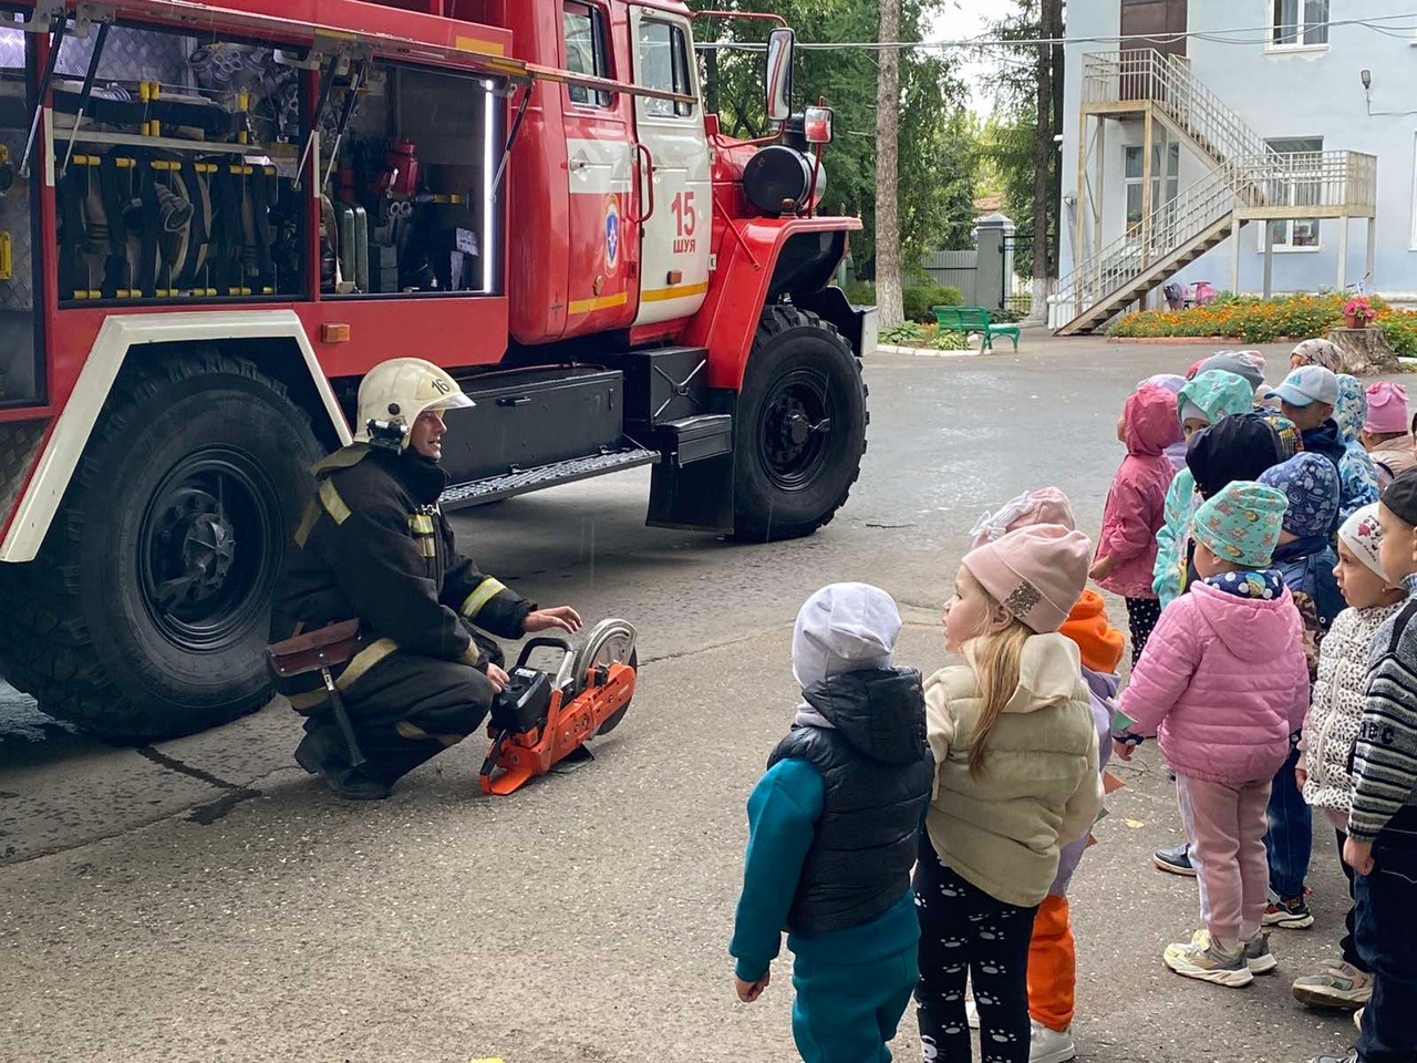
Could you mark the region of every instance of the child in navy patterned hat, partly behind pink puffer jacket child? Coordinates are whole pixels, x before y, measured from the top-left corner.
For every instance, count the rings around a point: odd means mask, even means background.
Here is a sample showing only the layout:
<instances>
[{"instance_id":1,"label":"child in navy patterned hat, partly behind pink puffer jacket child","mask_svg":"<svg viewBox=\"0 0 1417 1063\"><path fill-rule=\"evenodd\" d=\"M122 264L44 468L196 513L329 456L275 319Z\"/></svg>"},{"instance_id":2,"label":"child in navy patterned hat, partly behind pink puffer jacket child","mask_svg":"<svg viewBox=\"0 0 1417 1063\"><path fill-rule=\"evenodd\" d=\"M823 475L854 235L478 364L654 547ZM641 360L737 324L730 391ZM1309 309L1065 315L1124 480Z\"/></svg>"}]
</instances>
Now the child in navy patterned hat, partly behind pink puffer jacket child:
<instances>
[{"instance_id":1,"label":"child in navy patterned hat, partly behind pink puffer jacket child","mask_svg":"<svg viewBox=\"0 0 1417 1063\"><path fill-rule=\"evenodd\" d=\"M1328 530L1338 513L1338 472L1316 454L1298 454L1260 475L1264 483L1284 493L1284 532L1274 551L1274 567L1294 595L1304 619L1304 656L1309 682L1318 677L1319 645L1329 625L1343 609L1343 595L1333 578L1338 557ZM1274 777L1270 789L1270 832L1264 846L1270 857L1270 907L1264 926L1306 930L1314 916L1305 900L1304 880L1314 855L1314 816L1295 782L1299 765L1298 736L1289 760Z\"/></svg>"}]
</instances>

